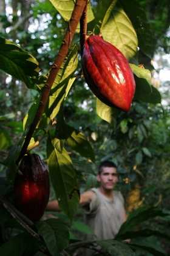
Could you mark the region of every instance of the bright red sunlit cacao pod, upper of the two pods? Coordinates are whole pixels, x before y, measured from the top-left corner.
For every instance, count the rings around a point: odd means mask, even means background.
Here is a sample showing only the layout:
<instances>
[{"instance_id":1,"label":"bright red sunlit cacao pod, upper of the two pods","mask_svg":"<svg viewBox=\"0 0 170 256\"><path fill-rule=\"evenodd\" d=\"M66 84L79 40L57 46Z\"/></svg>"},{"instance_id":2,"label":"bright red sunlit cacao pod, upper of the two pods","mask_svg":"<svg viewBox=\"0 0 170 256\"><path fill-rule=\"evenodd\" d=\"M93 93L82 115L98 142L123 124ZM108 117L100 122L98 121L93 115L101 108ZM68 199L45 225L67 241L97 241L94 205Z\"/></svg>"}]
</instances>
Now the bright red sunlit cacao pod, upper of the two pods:
<instances>
[{"instance_id":1,"label":"bright red sunlit cacao pod, upper of the two pods","mask_svg":"<svg viewBox=\"0 0 170 256\"><path fill-rule=\"evenodd\" d=\"M82 56L87 85L102 102L129 111L135 80L124 55L98 35L87 38Z\"/></svg>"}]
</instances>

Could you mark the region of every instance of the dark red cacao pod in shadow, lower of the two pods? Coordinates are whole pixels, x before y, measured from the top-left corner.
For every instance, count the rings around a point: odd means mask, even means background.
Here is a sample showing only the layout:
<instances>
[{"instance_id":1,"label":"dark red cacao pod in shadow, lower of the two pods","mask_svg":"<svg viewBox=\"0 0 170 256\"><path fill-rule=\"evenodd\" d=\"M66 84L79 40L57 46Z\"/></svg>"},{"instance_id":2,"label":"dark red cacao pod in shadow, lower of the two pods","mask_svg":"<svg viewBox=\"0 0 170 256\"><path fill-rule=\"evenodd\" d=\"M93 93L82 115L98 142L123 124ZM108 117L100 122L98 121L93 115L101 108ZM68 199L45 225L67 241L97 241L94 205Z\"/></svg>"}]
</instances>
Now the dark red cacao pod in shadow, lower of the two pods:
<instances>
[{"instance_id":1,"label":"dark red cacao pod in shadow, lower of the two pods","mask_svg":"<svg viewBox=\"0 0 170 256\"><path fill-rule=\"evenodd\" d=\"M49 201L49 172L38 154L25 155L14 183L15 206L32 221L38 221Z\"/></svg>"}]
</instances>

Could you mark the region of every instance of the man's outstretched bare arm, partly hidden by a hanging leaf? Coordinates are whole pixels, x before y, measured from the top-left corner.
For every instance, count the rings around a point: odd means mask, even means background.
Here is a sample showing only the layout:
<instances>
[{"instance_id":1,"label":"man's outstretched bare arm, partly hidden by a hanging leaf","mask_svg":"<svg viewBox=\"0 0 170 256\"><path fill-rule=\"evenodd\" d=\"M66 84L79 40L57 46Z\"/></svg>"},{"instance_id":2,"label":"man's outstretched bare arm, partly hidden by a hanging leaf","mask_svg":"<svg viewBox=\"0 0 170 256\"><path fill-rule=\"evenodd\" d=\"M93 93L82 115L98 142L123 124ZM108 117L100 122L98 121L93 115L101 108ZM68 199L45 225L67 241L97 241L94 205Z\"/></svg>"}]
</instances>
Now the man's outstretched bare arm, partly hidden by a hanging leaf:
<instances>
[{"instance_id":1,"label":"man's outstretched bare arm, partly hidden by a hanging leaf","mask_svg":"<svg viewBox=\"0 0 170 256\"><path fill-rule=\"evenodd\" d=\"M86 204L90 204L90 202L92 201L92 198L94 196L94 192L92 192L92 190L88 190L86 192L84 192L83 194L80 195L80 205L84 206ZM49 211L60 211L60 207L58 205L58 201L57 200L52 200L49 201L46 207L46 210Z\"/></svg>"}]
</instances>

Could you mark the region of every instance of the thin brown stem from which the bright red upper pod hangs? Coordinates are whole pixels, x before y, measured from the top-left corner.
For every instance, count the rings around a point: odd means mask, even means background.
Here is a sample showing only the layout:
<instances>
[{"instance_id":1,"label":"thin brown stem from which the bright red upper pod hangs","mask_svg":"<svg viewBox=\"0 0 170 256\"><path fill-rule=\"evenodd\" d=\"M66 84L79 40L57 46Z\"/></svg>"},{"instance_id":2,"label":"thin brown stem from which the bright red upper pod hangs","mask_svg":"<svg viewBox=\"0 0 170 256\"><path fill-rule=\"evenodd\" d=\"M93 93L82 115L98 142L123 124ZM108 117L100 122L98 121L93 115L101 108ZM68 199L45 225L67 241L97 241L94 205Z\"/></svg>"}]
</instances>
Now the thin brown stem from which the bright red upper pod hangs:
<instances>
[{"instance_id":1,"label":"thin brown stem from which the bright red upper pod hangs","mask_svg":"<svg viewBox=\"0 0 170 256\"><path fill-rule=\"evenodd\" d=\"M87 2L80 19L80 47L81 56L83 55L83 47L87 36Z\"/></svg>"}]
</instances>

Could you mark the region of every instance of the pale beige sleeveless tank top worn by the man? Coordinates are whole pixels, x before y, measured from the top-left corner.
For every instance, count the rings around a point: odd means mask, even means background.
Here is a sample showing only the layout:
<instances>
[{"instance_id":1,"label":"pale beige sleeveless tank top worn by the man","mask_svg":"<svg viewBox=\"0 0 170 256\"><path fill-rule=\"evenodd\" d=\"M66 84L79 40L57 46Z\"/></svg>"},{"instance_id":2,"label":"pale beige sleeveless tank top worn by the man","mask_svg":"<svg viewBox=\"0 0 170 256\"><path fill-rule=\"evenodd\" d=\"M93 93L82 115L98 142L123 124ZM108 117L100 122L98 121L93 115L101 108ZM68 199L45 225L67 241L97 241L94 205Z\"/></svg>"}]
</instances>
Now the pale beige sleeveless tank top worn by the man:
<instances>
[{"instance_id":1,"label":"pale beige sleeveless tank top worn by the man","mask_svg":"<svg viewBox=\"0 0 170 256\"><path fill-rule=\"evenodd\" d=\"M92 189L94 197L86 209L86 223L94 235L87 239L114 238L124 222L124 199L119 191L114 190L113 199L108 199L100 190Z\"/></svg>"}]
</instances>

